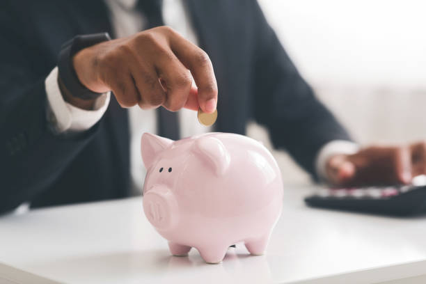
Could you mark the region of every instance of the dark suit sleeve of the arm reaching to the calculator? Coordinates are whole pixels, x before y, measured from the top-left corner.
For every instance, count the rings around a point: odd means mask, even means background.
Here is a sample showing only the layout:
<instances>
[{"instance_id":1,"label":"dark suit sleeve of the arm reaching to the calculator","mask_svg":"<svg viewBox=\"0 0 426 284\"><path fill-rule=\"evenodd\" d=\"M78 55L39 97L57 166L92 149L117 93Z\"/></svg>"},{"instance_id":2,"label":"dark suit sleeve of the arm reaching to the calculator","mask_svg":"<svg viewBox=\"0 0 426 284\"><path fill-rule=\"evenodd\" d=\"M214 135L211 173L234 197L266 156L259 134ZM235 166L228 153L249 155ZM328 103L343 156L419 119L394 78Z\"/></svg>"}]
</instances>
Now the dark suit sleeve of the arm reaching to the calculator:
<instances>
[{"instance_id":1,"label":"dark suit sleeve of the arm reaching to the calculator","mask_svg":"<svg viewBox=\"0 0 426 284\"><path fill-rule=\"evenodd\" d=\"M274 147L287 149L298 164L316 177L318 150L335 139L350 140L349 135L315 98L256 1L252 8L257 42L253 67L255 120L269 129Z\"/></svg>"}]
</instances>

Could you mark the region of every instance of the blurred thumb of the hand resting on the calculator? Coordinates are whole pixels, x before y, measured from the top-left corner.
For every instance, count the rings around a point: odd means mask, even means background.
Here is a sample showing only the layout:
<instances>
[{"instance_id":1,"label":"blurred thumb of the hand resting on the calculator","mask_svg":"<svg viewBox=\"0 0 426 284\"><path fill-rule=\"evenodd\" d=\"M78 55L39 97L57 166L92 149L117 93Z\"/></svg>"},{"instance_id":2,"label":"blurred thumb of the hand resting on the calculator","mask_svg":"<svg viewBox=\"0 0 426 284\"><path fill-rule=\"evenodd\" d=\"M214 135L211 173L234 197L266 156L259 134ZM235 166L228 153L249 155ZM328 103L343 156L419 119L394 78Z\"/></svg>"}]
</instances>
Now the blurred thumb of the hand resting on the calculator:
<instances>
[{"instance_id":1,"label":"blurred thumb of the hand resting on the calculator","mask_svg":"<svg viewBox=\"0 0 426 284\"><path fill-rule=\"evenodd\" d=\"M336 185L343 185L352 180L356 167L345 155L336 155L329 159L327 173L329 180Z\"/></svg>"}]
</instances>

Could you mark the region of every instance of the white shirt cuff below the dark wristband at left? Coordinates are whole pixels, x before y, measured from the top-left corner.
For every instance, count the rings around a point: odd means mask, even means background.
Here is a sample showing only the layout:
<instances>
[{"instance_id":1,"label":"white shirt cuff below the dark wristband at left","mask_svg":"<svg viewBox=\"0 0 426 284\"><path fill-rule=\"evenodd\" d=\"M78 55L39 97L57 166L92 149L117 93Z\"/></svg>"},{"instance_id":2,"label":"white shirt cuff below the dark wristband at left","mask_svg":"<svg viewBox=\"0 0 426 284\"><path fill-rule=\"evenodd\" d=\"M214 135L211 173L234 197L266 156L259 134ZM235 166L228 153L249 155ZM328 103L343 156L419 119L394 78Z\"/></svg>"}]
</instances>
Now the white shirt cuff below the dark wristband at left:
<instances>
[{"instance_id":1,"label":"white shirt cuff below the dark wristband at left","mask_svg":"<svg viewBox=\"0 0 426 284\"><path fill-rule=\"evenodd\" d=\"M58 68L45 80L47 93L47 120L57 134L83 132L95 125L107 111L111 92L103 93L95 101L93 110L79 109L65 102L58 86Z\"/></svg>"}]
</instances>

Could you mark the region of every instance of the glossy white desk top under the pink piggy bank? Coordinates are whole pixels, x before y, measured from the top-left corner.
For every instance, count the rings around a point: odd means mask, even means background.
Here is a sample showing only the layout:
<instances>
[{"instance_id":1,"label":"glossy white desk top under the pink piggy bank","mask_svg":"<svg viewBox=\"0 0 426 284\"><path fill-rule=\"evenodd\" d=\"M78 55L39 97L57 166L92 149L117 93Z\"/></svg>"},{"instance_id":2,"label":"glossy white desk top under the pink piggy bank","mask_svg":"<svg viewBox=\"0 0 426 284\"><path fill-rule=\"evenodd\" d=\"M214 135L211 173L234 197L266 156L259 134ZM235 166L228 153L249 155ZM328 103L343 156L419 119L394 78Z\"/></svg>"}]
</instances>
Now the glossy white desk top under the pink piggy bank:
<instances>
[{"instance_id":1,"label":"glossy white desk top under the pink piggy bank","mask_svg":"<svg viewBox=\"0 0 426 284\"><path fill-rule=\"evenodd\" d=\"M307 193L285 190L267 255L240 244L221 265L194 249L171 256L141 198L2 216L0 283L373 283L426 273L426 217L316 210L303 205Z\"/></svg>"}]
</instances>

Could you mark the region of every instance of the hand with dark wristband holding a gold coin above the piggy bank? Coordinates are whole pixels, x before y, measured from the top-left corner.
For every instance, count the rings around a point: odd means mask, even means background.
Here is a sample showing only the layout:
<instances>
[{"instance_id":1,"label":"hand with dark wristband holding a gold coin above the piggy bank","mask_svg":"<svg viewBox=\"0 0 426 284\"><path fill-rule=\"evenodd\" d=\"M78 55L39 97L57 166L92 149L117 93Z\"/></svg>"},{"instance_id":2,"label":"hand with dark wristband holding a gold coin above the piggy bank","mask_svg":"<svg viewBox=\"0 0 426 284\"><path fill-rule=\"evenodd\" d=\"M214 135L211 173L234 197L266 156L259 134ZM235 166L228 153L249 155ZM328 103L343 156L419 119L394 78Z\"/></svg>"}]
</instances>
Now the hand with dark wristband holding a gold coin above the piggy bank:
<instances>
[{"instance_id":1,"label":"hand with dark wristband holding a gold coin above the piggy bank","mask_svg":"<svg viewBox=\"0 0 426 284\"><path fill-rule=\"evenodd\" d=\"M112 90L121 107L216 109L210 58L167 26L82 49L73 65L81 84L97 93Z\"/></svg>"}]
</instances>

